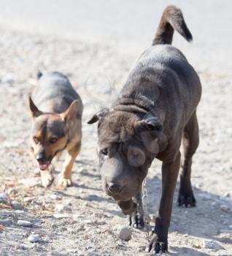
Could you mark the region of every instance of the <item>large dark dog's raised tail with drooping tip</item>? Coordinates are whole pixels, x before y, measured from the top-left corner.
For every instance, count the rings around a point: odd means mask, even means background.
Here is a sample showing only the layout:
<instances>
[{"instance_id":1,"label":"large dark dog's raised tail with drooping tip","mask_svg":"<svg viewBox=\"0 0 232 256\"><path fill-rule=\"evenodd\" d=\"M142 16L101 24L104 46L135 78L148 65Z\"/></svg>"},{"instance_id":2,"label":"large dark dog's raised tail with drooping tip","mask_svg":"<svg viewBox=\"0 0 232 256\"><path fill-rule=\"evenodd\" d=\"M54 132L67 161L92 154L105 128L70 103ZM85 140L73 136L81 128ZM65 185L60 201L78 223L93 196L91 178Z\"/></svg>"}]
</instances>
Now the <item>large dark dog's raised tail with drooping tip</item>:
<instances>
[{"instance_id":1,"label":"large dark dog's raised tail with drooping tip","mask_svg":"<svg viewBox=\"0 0 232 256\"><path fill-rule=\"evenodd\" d=\"M152 45L171 45L174 30L185 37L188 42L193 40L181 10L174 5L169 5L163 11Z\"/></svg>"}]
</instances>

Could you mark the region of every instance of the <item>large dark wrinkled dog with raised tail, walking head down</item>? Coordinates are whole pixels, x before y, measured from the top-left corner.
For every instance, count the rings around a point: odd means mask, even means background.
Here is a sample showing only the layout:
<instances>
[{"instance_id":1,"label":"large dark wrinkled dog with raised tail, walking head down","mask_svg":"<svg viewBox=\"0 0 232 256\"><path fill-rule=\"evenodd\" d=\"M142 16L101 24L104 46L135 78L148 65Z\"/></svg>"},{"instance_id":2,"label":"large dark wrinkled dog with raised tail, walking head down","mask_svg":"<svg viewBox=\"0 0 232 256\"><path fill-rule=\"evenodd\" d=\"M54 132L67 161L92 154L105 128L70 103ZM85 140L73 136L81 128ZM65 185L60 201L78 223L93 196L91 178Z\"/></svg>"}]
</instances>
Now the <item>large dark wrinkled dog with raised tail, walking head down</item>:
<instances>
[{"instance_id":1,"label":"large dark wrinkled dog with raised tail, walking head down","mask_svg":"<svg viewBox=\"0 0 232 256\"><path fill-rule=\"evenodd\" d=\"M147 246L155 253L168 249L181 143L184 154L178 203L196 205L190 173L199 142L196 108L201 83L185 56L171 46L174 29L187 41L192 40L181 10L169 6L163 12L152 46L140 56L112 108L101 110L88 121L98 121L104 189L129 215L131 225L144 225L142 182L153 159L163 162L162 197Z\"/></svg>"}]
</instances>

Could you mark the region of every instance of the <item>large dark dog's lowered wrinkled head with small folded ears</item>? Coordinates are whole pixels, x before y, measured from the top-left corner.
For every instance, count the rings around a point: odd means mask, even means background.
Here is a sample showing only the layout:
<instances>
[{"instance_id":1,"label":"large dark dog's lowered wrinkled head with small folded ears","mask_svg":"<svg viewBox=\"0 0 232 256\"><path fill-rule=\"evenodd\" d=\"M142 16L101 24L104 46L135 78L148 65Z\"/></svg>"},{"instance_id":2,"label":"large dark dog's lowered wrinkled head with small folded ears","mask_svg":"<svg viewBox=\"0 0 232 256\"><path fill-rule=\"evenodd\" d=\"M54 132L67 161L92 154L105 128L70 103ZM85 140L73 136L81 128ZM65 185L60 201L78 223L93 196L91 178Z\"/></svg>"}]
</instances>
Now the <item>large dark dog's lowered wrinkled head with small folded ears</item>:
<instances>
[{"instance_id":1,"label":"large dark dog's lowered wrinkled head with small folded ears","mask_svg":"<svg viewBox=\"0 0 232 256\"><path fill-rule=\"evenodd\" d=\"M163 125L158 118L119 110L102 110L88 124L96 121L103 187L117 201L131 200L158 153Z\"/></svg>"}]
</instances>

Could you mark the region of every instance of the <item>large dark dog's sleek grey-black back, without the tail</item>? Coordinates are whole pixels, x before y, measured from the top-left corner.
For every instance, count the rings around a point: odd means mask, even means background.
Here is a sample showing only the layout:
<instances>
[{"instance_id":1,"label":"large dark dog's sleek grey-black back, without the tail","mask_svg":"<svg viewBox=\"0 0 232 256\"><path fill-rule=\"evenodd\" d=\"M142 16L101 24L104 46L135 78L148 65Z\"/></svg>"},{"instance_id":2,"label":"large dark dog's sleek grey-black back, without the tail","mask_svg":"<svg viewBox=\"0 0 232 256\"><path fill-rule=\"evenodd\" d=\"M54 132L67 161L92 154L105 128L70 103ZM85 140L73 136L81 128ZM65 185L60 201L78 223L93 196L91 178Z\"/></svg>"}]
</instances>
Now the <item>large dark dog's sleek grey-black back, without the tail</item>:
<instances>
[{"instance_id":1,"label":"large dark dog's sleek grey-black back, without the tail","mask_svg":"<svg viewBox=\"0 0 232 256\"><path fill-rule=\"evenodd\" d=\"M147 109L152 109L161 121L169 118L167 129L178 129L186 123L201 98L201 83L185 56L171 45L154 45L147 49L132 69L121 97L146 97ZM139 103L141 104L141 102ZM146 106L144 106L146 107ZM160 113L165 110L165 113ZM180 113L180 111L182 113ZM171 120L175 120L172 124Z\"/></svg>"}]
</instances>

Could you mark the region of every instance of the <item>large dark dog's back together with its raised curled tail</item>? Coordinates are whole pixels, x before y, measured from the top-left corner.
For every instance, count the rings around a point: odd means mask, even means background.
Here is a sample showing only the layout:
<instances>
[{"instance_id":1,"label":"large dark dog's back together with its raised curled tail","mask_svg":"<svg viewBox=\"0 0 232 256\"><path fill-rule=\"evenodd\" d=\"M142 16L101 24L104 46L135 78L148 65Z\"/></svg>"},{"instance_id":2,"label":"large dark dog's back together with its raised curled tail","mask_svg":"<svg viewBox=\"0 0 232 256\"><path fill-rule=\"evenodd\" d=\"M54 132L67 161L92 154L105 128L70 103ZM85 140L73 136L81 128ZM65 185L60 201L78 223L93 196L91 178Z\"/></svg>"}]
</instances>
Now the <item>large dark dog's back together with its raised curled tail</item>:
<instances>
[{"instance_id":1,"label":"large dark dog's back together with its raised curled tail","mask_svg":"<svg viewBox=\"0 0 232 256\"><path fill-rule=\"evenodd\" d=\"M196 71L182 52L171 45L174 29L187 41L193 39L182 12L170 6L163 13L152 46L136 62L120 95L141 99L139 105L146 102L143 107L158 115L172 132L185 127L201 99Z\"/></svg>"}]
</instances>

